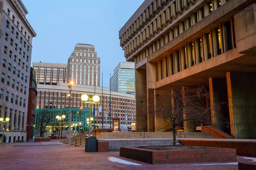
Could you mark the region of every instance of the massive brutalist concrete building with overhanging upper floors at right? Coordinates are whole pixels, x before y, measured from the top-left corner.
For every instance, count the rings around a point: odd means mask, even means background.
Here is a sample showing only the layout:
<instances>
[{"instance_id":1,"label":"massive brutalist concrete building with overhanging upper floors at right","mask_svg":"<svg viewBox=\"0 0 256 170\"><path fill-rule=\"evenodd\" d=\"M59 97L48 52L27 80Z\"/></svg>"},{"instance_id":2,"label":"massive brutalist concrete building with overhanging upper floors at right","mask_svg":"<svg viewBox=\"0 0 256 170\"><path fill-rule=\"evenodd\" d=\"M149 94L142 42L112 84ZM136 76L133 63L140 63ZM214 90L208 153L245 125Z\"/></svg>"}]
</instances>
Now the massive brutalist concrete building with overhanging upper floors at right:
<instances>
[{"instance_id":1,"label":"massive brutalist concrete building with overhanging upper floors at right","mask_svg":"<svg viewBox=\"0 0 256 170\"><path fill-rule=\"evenodd\" d=\"M253 0L145 0L119 31L127 61L135 63L136 124L168 130L141 108L174 85L209 89L212 110L230 121L236 139L256 139L256 4ZM175 102L175 101L174 101ZM144 105L143 105L144 104ZM145 106L144 106L145 107ZM195 124L184 122L185 131ZM223 127L218 127L222 129ZM159 130L160 129L160 130Z\"/></svg>"}]
</instances>

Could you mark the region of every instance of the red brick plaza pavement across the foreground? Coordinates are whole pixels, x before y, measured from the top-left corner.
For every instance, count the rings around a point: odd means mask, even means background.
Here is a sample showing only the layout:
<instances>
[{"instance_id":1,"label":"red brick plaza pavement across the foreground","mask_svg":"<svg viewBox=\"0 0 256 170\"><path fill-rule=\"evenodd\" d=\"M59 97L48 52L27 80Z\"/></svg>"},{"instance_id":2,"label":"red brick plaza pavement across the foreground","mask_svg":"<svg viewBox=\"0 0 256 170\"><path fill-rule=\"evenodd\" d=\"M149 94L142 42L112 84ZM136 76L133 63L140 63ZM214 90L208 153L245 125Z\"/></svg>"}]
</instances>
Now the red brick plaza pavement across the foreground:
<instances>
[{"instance_id":1,"label":"red brick plaza pavement across the foreground","mask_svg":"<svg viewBox=\"0 0 256 170\"><path fill-rule=\"evenodd\" d=\"M40 142L37 142L38 144ZM58 142L48 142L41 144L52 144ZM20 143L23 144L23 143ZM3 147L0 144L0 164L1 169L9 170L144 170L144 169L174 169L174 170L238 170L237 164L146 164L132 159L126 159L119 156L119 152L101 152L101 153L85 153L84 147L68 146L61 144L59 146L44 147L26 147L25 145L34 145L33 143L24 143L24 147ZM8 145L8 144L5 144ZM17 144L15 144L17 145ZM109 157L115 157L133 163L141 164L142 166L121 164L111 162ZM242 156L237 156L238 161L251 161L243 159ZM218 162L221 163L221 162Z\"/></svg>"}]
</instances>

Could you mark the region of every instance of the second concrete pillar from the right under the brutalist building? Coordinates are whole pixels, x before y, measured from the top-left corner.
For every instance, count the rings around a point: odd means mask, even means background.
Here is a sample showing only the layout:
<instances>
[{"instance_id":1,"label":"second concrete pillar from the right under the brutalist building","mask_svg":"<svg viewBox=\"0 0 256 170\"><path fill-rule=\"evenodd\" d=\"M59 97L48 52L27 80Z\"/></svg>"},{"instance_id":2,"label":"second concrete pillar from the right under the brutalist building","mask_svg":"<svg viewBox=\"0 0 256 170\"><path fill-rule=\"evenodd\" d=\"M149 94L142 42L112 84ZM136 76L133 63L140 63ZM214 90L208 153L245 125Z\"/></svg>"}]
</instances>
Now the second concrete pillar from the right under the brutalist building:
<instances>
[{"instance_id":1,"label":"second concrete pillar from the right under the brutalist building","mask_svg":"<svg viewBox=\"0 0 256 170\"><path fill-rule=\"evenodd\" d=\"M227 79L209 78L212 125L230 134L230 127L226 124L230 122L228 105L225 104L228 102L226 85Z\"/></svg>"}]
</instances>

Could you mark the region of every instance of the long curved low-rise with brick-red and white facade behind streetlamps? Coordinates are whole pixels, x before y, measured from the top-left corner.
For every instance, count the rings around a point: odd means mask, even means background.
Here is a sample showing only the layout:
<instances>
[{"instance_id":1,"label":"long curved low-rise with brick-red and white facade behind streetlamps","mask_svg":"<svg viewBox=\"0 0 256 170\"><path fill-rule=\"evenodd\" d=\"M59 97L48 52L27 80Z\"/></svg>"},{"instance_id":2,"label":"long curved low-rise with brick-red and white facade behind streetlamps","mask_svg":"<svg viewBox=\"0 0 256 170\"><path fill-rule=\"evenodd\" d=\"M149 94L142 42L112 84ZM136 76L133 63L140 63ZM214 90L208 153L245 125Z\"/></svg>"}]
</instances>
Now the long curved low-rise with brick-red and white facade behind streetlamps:
<instances>
[{"instance_id":1,"label":"long curved low-rise with brick-red and white facade behind streetlamps","mask_svg":"<svg viewBox=\"0 0 256 170\"><path fill-rule=\"evenodd\" d=\"M94 89L95 88L95 89ZM58 83L58 85L37 85L37 109L59 109L69 108L69 88L68 83ZM81 101L81 95L87 94L89 98L94 95L100 97L100 102L96 104L95 111L102 105L103 111L103 124L109 126L109 103L110 103L110 91L108 88L94 87L89 85L73 85L71 91L71 108L89 107L86 103L85 106ZM92 104L92 107L94 105ZM92 111L93 113L93 111ZM135 121L135 100L134 95L123 94L119 92L111 92L111 119L114 116L120 117L120 125L131 125ZM106 118L107 122L105 124ZM112 122L112 121L111 121ZM96 116L96 125L102 125L102 113Z\"/></svg>"}]
</instances>

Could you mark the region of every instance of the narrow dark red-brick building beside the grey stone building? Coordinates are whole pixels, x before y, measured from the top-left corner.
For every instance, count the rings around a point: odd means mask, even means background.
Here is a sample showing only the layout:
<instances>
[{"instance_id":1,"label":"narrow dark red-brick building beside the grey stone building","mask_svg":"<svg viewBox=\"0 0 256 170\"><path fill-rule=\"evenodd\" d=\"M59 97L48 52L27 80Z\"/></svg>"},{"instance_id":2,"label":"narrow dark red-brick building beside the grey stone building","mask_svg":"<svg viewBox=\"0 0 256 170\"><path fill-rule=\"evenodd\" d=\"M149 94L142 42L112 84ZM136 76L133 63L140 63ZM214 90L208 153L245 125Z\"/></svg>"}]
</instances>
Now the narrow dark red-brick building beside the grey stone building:
<instances>
[{"instance_id":1,"label":"narrow dark red-brick building beside the grey stone building","mask_svg":"<svg viewBox=\"0 0 256 170\"><path fill-rule=\"evenodd\" d=\"M28 104L28 114L27 114L27 136L26 140L33 139L34 135L34 126L35 126L35 107L36 107L36 72L31 67L30 76L29 76L29 104Z\"/></svg>"}]
</instances>

